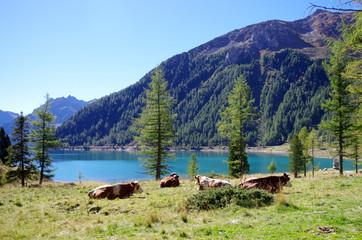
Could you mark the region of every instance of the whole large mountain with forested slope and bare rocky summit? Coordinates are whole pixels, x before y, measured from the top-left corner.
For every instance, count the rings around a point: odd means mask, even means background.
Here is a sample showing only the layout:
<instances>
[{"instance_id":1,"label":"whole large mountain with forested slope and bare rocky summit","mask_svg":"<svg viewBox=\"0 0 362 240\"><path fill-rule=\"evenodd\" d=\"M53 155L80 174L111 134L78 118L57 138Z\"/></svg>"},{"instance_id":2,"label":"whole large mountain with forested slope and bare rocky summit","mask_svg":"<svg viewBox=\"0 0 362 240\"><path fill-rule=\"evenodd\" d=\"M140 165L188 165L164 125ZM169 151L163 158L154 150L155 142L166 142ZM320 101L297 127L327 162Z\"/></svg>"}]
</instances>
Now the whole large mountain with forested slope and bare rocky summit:
<instances>
[{"instance_id":1,"label":"whole large mountain with forested slope and bare rocky summit","mask_svg":"<svg viewBox=\"0 0 362 240\"><path fill-rule=\"evenodd\" d=\"M227 145L217 132L219 110L233 83L244 74L259 109L257 122L246 125L248 144L276 145L303 126L316 126L324 113L329 81L322 67L325 40L337 38L350 13L317 10L293 22L266 21L234 30L161 63L177 100L176 145ZM138 117L152 71L134 85L103 97L64 122L57 130L70 145L129 145L132 118Z\"/></svg>"}]
</instances>

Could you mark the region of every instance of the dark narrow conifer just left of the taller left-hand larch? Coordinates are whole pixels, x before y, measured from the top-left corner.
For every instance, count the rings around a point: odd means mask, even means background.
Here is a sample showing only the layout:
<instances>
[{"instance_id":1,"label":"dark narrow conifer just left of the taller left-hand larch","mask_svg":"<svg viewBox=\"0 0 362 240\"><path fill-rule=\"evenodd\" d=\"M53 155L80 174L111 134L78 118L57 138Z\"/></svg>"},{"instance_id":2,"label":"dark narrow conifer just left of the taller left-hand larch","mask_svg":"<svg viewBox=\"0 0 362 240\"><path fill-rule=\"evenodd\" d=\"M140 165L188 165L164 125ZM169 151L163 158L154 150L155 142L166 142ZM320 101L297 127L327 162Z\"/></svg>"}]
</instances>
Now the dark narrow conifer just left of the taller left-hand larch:
<instances>
[{"instance_id":1,"label":"dark narrow conifer just left of the taller left-hand larch","mask_svg":"<svg viewBox=\"0 0 362 240\"><path fill-rule=\"evenodd\" d=\"M25 186L25 181L31 179L35 172L33 160L30 158L28 148L29 142L29 124L28 118L21 113L15 119L15 125L12 133L13 145L9 147L9 156L7 164L11 168L6 173L7 181L21 181L21 186Z\"/></svg>"}]
</instances>

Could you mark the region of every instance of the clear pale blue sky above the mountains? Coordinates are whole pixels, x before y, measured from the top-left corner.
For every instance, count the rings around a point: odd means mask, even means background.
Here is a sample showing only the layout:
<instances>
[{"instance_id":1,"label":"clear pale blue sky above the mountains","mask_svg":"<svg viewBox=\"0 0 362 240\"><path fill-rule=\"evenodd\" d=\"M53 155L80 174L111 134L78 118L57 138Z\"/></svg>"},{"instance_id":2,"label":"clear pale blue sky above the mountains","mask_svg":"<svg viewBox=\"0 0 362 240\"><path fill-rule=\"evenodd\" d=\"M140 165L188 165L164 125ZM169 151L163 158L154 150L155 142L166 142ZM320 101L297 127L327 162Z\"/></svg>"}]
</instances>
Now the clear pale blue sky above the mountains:
<instances>
[{"instance_id":1,"label":"clear pale blue sky above the mountains","mask_svg":"<svg viewBox=\"0 0 362 240\"><path fill-rule=\"evenodd\" d=\"M89 101L136 83L162 61L234 29L311 14L336 0L1 0L0 110L44 96Z\"/></svg>"}]
</instances>

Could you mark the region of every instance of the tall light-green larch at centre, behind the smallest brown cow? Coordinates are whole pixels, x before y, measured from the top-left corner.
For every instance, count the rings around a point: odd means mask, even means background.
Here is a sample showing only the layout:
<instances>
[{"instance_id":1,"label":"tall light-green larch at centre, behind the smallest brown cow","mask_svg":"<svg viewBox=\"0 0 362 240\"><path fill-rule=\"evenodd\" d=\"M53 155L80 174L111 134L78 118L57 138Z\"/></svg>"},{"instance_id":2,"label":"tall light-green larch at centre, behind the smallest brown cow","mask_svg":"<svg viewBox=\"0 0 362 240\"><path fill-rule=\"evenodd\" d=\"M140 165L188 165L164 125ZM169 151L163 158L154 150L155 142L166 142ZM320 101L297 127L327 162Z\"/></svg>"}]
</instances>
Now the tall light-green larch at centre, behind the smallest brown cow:
<instances>
[{"instance_id":1,"label":"tall light-green larch at centre, behind the smallest brown cow","mask_svg":"<svg viewBox=\"0 0 362 240\"><path fill-rule=\"evenodd\" d=\"M167 82L160 68L155 70L150 89L146 89L145 106L140 117L135 120L133 129L137 132L135 141L140 145L140 153L146 155L140 158L142 167L149 175L155 175L156 180L169 171L168 160L174 159L174 153L168 150L176 138L174 119L171 114L174 100L166 91Z\"/></svg>"}]
</instances>

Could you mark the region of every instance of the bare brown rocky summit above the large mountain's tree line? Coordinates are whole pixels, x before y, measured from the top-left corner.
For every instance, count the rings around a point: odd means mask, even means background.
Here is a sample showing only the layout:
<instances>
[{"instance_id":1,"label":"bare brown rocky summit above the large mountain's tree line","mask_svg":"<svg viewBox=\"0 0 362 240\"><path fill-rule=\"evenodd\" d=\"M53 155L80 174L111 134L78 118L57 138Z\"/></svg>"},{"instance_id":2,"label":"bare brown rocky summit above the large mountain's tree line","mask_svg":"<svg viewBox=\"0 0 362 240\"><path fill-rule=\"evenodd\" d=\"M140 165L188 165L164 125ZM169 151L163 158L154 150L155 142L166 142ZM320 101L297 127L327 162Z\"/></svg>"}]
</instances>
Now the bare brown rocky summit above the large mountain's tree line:
<instances>
[{"instance_id":1,"label":"bare brown rocky summit above the large mountain's tree line","mask_svg":"<svg viewBox=\"0 0 362 240\"><path fill-rule=\"evenodd\" d=\"M234 30L191 51L195 56L227 51L225 64L247 63L265 53L286 48L299 49L311 58L321 58L327 55L326 38L337 38L342 20L349 23L352 17L352 13L317 10L293 22L271 20Z\"/></svg>"}]
</instances>

